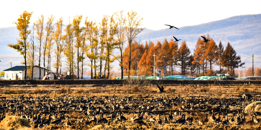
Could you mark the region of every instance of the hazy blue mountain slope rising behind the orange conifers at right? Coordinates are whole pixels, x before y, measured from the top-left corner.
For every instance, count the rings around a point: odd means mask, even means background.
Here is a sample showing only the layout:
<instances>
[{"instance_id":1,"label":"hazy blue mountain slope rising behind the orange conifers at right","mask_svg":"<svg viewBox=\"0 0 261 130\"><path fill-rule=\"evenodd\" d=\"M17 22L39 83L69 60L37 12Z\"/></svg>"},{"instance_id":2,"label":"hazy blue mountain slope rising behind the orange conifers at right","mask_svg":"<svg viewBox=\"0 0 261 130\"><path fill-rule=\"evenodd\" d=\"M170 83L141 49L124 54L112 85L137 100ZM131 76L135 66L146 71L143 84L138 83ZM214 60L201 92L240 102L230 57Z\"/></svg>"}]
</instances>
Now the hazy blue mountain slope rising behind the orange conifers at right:
<instances>
[{"instance_id":1,"label":"hazy blue mountain slope rising behind the orange conifers at right","mask_svg":"<svg viewBox=\"0 0 261 130\"><path fill-rule=\"evenodd\" d=\"M248 54L254 54L254 67L261 67L261 14L233 16L219 21L178 28L179 30L169 29L166 26L166 29L141 32L137 40L142 43L152 41L156 44L158 41L163 43L165 38L170 41L173 39L172 36L175 36L177 39L182 39L178 44L186 41L193 53L198 38L209 35L217 45L221 41L224 48L229 42L237 55L241 56L242 62L246 62L245 66L252 67L252 58L248 58Z\"/></svg>"}]
</instances>

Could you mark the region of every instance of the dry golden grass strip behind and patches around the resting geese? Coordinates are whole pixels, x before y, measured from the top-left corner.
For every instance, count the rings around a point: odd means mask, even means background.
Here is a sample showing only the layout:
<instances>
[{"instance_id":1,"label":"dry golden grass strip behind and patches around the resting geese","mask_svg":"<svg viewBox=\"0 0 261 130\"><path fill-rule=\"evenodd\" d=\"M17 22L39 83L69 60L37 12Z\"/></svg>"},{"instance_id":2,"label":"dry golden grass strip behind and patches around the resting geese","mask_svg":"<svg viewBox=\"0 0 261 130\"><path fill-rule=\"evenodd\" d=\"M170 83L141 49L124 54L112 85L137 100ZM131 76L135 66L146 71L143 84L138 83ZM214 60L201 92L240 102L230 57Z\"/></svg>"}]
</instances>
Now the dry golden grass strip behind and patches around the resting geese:
<instances>
[{"instance_id":1,"label":"dry golden grass strip behind and patches around the resting geese","mask_svg":"<svg viewBox=\"0 0 261 130\"><path fill-rule=\"evenodd\" d=\"M161 86L161 85L160 85ZM37 86L17 86L17 85L11 85L11 86L3 86L0 90L1 96L6 96L7 99L11 99L11 96L19 96L21 94L24 94L25 96L45 96L46 93L48 96L50 96L51 99L57 99L61 96L84 96L84 97L91 97L91 96L97 96L97 97L104 97L104 96L115 96L122 98L122 97L128 97L128 96L134 96L136 99L138 99L138 102L143 102L143 100L140 99L141 96L147 96L147 94L150 94L154 97L169 97L175 98L178 96L177 93L180 93L184 99L188 99L188 96L194 96L197 97L198 95L201 96L201 99L205 98L235 98L239 99L243 93L249 93L253 95L253 99L259 99L261 89L258 85L163 85L164 90L167 92L165 93L158 93L158 87L156 85L110 85L110 86L97 86L97 85L37 85ZM15 91L19 90L19 91ZM12 92L9 92L12 91ZM24 93L21 93L24 92ZM155 98L154 98L155 99ZM143 102L144 105L148 105L148 103ZM244 102L247 104L247 102ZM126 104L127 105L127 104ZM140 105L140 104L139 104ZM155 104L158 105L158 104ZM178 103L177 106L174 106L172 108L164 109L163 112L168 113L170 110L172 112L177 111L179 109L179 105L182 106L182 103ZM196 106L196 105L195 105ZM110 106L111 107L111 106ZM216 106L213 106L215 108ZM229 106L231 110L233 109L239 109L239 106ZM248 106L246 106L245 110L246 112L254 112L259 111L261 109L261 103L259 102L252 102ZM205 112L195 112L195 115L192 115L191 113L188 113L189 111L182 112L186 115L186 117L193 117L200 119L201 117L205 119ZM176 115L174 116L174 119L168 123L163 123L162 125L157 125L156 123L149 122L150 116L144 115L144 122L147 123L147 125L138 125L133 122L123 121L123 122L112 122L112 123L104 123L104 124L90 124L90 125L84 125L83 123L78 123L81 118L83 118L83 114L80 112L71 112L70 114L67 114L70 117L70 121L74 124L73 127L66 127L65 121L63 121L60 125L49 125L45 126L42 129L260 129L260 124L254 124L254 125L236 125L236 123L232 123L226 126L222 126L219 124L215 124L211 121L205 122L205 125L198 125L195 123L187 123L185 125L176 124L174 123L175 120L179 119L181 116ZM136 117L138 116L136 113L134 114ZM107 117L108 116L108 117ZM109 115L104 116L107 119L110 119ZM124 116L127 119L131 118L131 114L124 113ZM153 115L154 118L157 120L158 116ZM230 117L231 115L229 115ZM249 121L251 119L251 114L248 114L246 116L246 120ZM217 117L217 116L216 116ZM99 119L100 116L97 116L97 119ZM161 115L161 119L164 119L164 116ZM223 118L221 118L223 119ZM3 122L3 121L2 121ZM1 124L2 124L1 122ZM0 124L0 125L1 125ZM22 125L21 125L22 126ZM15 125L14 128L22 128L20 125ZM1 125L2 128L5 128ZM10 129L13 127L10 127ZM27 128L27 127L26 127ZM32 127L31 127L32 128ZM24 128L25 129L25 128Z\"/></svg>"}]
</instances>

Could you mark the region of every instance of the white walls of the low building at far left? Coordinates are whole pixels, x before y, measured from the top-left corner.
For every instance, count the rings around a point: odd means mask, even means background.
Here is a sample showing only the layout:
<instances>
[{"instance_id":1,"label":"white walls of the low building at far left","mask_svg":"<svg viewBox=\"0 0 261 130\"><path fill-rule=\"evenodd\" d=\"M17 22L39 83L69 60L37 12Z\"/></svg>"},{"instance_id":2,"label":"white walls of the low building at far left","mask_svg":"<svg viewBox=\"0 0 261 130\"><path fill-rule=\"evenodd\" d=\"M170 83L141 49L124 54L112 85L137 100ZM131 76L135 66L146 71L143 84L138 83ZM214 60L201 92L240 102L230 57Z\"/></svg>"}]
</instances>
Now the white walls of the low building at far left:
<instances>
[{"instance_id":1,"label":"white walls of the low building at far left","mask_svg":"<svg viewBox=\"0 0 261 130\"><path fill-rule=\"evenodd\" d=\"M18 80L24 80L25 70L23 70L23 71L5 71L5 80L15 80L15 75L18 75ZM41 79L40 80L42 80L43 77L44 77L44 73L43 73L43 69L41 69ZM39 80L39 67L34 67L33 79Z\"/></svg>"}]
</instances>

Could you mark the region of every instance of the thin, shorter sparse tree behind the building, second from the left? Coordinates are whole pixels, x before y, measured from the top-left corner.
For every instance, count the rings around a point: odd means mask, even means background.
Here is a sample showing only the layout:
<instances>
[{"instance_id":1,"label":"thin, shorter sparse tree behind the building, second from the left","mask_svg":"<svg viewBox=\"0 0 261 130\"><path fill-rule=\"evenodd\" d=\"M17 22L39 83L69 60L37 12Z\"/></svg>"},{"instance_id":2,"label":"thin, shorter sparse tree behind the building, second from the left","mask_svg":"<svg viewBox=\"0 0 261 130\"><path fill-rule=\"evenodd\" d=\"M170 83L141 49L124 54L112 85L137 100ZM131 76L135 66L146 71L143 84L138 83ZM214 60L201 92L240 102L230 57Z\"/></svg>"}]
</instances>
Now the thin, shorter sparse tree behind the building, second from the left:
<instances>
[{"instance_id":1,"label":"thin, shorter sparse tree behind the building, second from the left","mask_svg":"<svg viewBox=\"0 0 261 130\"><path fill-rule=\"evenodd\" d=\"M33 68L35 65L35 50L36 50L36 46L34 44L34 30L35 30L35 23L33 23L33 27L30 33L30 42L28 44L28 64L29 64L29 72L31 73L27 73L28 77L31 77L31 80L33 79Z\"/></svg>"}]
</instances>

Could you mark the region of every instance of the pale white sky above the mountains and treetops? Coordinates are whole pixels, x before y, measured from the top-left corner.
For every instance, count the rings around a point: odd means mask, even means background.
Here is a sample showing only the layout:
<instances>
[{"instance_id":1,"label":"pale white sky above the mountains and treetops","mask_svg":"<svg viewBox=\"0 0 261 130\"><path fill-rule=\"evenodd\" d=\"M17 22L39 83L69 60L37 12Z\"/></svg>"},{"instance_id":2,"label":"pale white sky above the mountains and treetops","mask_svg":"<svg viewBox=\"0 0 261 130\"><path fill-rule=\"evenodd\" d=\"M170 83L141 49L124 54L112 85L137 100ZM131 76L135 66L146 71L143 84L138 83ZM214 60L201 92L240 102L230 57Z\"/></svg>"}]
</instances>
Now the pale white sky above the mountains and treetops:
<instances>
[{"instance_id":1,"label":"pale white sky above the mountains and treetops","mask_svg":"<svg viewBox=\"0 0 261 130\"><path fill-rule=\"evenodd\" d=\"M42 14L44 22L54 15L56 19L63 17L64 24L75 15L88 16L99 23L103 15L133 10L143 17L142 27L152 30L167 28L164 24L183 27L236 15L261 14L260 0L5 0L0 3L0 28L15 26L13 22L24 10L33 11L31 23Z\"/></svg>"}]
</instances>

